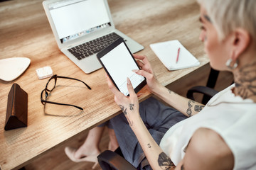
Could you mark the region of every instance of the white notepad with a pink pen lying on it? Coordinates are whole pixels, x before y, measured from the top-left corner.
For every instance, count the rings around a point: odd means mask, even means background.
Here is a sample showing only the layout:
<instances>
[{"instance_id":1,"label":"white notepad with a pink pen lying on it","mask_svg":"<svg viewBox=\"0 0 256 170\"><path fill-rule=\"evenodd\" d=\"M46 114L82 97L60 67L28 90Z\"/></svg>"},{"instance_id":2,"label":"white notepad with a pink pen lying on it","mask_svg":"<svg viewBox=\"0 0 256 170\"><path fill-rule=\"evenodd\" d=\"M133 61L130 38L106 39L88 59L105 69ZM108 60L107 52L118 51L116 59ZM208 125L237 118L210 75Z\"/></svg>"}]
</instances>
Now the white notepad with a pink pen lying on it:
<instances>
[{"instance_id":1,"label":"white notepad with a pink pen lying on it","mask_svg":"<svg viewBox=\"0 0 256 170\"><path fill-rule=\"evenodd\" d=\"M150 45L159 60L169 70L186 69L196 67L200 62L194 57L191 52L186 50L178 40L170 40L166 42L158 42ZM178 52L178 48L180 48ZM179 53L179 54L178 54ZM178 62L177 61L178 55Z\"/></svg>"}]
</instances>

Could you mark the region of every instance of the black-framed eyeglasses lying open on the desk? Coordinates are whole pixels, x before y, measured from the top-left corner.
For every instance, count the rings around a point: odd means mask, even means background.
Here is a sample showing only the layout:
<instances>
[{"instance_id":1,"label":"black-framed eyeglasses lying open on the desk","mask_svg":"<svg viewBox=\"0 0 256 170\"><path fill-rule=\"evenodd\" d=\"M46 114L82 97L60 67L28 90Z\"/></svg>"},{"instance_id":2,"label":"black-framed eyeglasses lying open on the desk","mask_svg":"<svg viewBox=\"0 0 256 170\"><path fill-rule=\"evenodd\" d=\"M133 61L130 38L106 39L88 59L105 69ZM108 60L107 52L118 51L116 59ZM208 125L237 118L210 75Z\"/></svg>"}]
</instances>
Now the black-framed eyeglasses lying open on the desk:
<instances>
[{"instance_id":1,"label":"black-framed eyeglasses lying open on the desk","mask_svg":"<svg viewBox=\"0 0 256 170\"><path fill-rule=\"evenodd\" d=\"M56 103L53 101L47 101L47 98L49 96L50 91L53 91L53 89L56 86L56 82L57 82L57 78L62 78L62 79L73 79L73 80L77 80L82 82L83 84L85 84L85 86L87 86L88 89L91 89L90 86L88 86L84 81L81 81L79 79L74 79L74 78L70 78L70 77L61 77L61 76L57 76L56 74L53 75L53 77L50 77L50 79L48 80L47 84L46 84L46 88L43 89L43 91L41 92L41 103L43 105L45 105L46 103L51 103L51 104L57 104L57 105L64 105L64 106L73 106L75 108L78 108L80 110L83 110L81 107L79 106L75 106L75 105L71 105L71 104L64 104L64 103Z\"/></svg>"}]
</instances>

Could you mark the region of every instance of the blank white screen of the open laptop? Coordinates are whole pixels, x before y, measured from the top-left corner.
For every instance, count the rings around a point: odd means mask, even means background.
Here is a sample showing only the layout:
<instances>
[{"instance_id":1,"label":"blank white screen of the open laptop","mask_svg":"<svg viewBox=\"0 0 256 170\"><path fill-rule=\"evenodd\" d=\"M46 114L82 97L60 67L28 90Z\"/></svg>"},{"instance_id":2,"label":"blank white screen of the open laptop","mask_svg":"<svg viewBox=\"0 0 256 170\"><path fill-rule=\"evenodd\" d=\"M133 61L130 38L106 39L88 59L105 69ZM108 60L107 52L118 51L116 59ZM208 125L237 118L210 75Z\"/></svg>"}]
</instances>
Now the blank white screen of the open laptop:
<instances>
[{"instance_id":1,"label":"blank white screen of the open laptop","mask_svg":"<svg viewBox=\"0 0 256 170\"><path fill-rule=\"evenodd\" d=\"M111 26L104 0L65 0L48 8L61 43Z\"/></svg>"}]
</instances>

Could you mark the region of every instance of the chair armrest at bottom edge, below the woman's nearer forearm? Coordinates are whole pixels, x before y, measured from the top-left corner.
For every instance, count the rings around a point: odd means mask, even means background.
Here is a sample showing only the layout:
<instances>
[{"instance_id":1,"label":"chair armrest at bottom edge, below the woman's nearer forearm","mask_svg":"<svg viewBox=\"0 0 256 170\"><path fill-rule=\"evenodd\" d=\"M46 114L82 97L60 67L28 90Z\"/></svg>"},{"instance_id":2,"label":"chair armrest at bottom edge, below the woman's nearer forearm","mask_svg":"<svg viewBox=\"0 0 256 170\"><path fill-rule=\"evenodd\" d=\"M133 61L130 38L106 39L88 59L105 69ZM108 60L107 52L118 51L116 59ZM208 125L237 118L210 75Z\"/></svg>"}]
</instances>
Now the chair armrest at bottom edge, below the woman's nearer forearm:
<instances>
[{"instance_id":1,"label":"chair armrest at bottom edge, below the woman's nearer forearm","mask_svg":"<svg viewBox=\"0 0 256 170\"><path fill-rule=\"evenodd\" d=\"M110 150L105 150L105 152L99 154L97 159L102 170L112 170L112 167L118 170L136 170L127 160Z\"/></svg>"}]
</instances>

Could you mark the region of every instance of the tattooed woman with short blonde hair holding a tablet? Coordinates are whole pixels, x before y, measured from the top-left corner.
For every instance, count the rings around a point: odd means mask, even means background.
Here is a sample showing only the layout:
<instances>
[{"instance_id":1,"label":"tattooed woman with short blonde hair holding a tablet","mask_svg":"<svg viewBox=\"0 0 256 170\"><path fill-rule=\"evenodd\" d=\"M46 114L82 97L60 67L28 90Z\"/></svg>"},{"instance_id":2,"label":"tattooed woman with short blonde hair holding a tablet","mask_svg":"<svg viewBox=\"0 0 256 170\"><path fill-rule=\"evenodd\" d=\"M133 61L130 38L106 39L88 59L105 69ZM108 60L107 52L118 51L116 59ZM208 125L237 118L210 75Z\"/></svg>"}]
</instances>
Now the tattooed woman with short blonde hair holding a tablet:
<instances>
[{"instance_id":1,"label":"tattooed woman with short blonde hair holding a tablet","mask_svg":"<svg viewBox=\"0 0 256 170\"><path fill-rule=\"evenodd\" d=\"M161 86L146 57L134 55L142 68L134 72L176 111L154 98L139 104L129 79L126 97L107 77L124 113L110 122L125 159L139 169L169 169L171 162L176 169L256 169L256 1L198 3L210 66L233 72L235 84L203 106Z\"/></svg>"}]
</instances>

